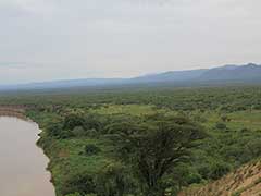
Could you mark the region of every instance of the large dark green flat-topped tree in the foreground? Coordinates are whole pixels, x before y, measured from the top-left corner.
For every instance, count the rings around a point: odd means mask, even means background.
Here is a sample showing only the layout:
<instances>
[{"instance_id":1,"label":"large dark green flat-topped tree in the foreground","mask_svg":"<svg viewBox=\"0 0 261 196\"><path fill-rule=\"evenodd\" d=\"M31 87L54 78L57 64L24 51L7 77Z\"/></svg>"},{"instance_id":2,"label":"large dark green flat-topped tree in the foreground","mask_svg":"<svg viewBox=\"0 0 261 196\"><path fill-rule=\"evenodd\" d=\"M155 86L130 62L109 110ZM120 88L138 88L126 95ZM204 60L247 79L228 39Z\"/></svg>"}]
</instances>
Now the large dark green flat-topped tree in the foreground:
<instances>
[{"instance_id":1,"label":"large dark green flat-topped tree in the foreground","mask_svg":"<svg viewBox=\"0 0 261 196\"><path fill-rule=\"evenodd\" d=\"M117 138L121 158L134 169L146 196L164 195L164 175L189 157L189 149L204 133L186 118L158 119L147 122L146 130L145 124L140 132L137 125L134 128L134 134L123 133Z\"/></svg>"}]
</instances>

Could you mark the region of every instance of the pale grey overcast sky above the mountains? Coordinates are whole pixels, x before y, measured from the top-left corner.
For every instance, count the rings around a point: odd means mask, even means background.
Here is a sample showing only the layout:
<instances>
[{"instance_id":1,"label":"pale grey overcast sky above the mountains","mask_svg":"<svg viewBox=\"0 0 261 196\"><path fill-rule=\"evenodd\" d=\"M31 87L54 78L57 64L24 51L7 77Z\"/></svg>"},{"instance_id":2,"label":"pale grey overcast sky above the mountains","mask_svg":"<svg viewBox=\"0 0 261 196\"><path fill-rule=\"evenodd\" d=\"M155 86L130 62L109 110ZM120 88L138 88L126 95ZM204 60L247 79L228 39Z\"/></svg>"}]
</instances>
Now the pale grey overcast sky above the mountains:
<instances>
[{"instance_id":1,"label":"pale grey overcast sky above the mountains","mask_svg":"<svg viewBox=\"0 0 261 196\"><path fill-rule=\"evenodd\" d=\"M0 85L261 62L260 0L0 0Z\"/></svg>"}]
</instances>

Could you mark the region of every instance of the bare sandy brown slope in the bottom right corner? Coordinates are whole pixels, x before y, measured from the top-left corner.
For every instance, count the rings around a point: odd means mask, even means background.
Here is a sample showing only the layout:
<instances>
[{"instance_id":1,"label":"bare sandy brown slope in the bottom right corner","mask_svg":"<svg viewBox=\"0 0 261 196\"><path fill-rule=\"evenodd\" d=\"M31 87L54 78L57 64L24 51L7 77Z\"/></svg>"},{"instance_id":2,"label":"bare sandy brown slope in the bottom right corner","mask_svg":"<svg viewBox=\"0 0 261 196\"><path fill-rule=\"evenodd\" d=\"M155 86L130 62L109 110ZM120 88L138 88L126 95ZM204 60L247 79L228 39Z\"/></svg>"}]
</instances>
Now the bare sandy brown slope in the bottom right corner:
<instances>
[{"instance_id":1,"label":"bare sandy brown slope in the bottom right corner","mask_svg":"<svg viewBox=\"0 0 261 196\"><path fill-rule=\"evenodd\" d=\"M202 187L190 187L178 196L261 196L261 161L246 164Z\"/></svg>"}]
</instances>

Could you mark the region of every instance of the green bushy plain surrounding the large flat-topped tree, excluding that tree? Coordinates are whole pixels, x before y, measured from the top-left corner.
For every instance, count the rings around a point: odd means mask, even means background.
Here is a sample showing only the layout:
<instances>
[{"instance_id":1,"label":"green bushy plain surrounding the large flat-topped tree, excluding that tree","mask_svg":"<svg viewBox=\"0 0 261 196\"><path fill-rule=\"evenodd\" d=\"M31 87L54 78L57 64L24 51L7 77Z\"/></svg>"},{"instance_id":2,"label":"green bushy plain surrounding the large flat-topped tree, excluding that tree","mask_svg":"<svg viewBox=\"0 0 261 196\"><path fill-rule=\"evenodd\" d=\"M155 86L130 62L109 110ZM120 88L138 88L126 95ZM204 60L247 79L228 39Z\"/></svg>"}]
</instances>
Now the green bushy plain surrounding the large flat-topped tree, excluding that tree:
<instances>
[{"instance_id":1,"label":"green bushy plain surrounding the large flat-topped tree, excluding that tree","mask_svg":"<svg viewBox=\"0 0 261 196\"><path fill-rule=\"evenodd\" d=\"M176 195L181 188L222 179L261 157L260 100L259 86L60 91L0 97L2 105L25 105L27 115L42 128L38 144L51 160L49 170L58 196L88 195L80 192L83 187L78 186L80 179L77 176L96 177L108 168L122 163L111 140L111 124L144 123L148 117L159 114L186 117L200 124L208 134L201 145L191 150L190 159L165 176L172 182L167 187L170 194ZM84 124L71 126L72 117L73 120L84 119ZM66 121L70 126L65 128ZM61 133L53 135L50 125L61 128ZM97 147L99 152L86 155L89 145ZM130 176L130 171L126 175Z\"/></svg>"}]
</instances>

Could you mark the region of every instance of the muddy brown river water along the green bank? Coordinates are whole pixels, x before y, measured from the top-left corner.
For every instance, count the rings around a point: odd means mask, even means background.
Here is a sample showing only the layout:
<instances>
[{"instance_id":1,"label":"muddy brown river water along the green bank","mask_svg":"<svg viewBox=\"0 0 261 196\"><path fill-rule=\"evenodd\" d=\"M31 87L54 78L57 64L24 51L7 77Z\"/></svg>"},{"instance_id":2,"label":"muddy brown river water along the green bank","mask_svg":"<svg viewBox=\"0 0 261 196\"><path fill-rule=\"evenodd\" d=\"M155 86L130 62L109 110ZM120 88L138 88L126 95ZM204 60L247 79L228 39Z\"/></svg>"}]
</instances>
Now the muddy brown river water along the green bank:
<instances>
[{"instance_id":1,"label":"muddy brown river water along the green bank","mask_svg":"<svg viewBox=\"0 0 261 196\"><path fill-rule=\"evenodd\" d=\"M0 196L54 196L36 123L0 117Z\"/></svg>"}]
</instances>

